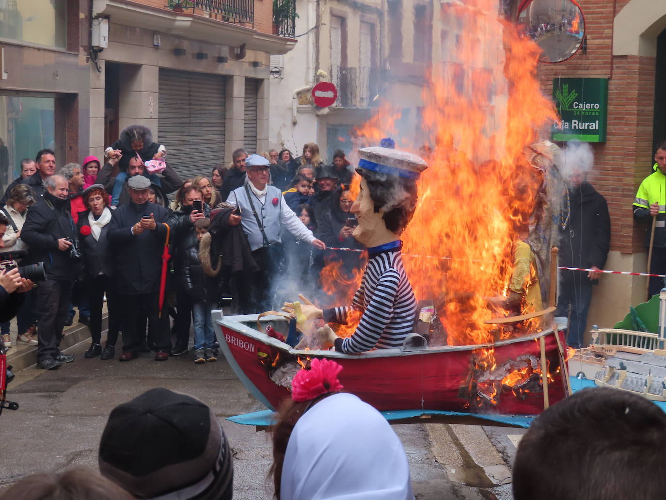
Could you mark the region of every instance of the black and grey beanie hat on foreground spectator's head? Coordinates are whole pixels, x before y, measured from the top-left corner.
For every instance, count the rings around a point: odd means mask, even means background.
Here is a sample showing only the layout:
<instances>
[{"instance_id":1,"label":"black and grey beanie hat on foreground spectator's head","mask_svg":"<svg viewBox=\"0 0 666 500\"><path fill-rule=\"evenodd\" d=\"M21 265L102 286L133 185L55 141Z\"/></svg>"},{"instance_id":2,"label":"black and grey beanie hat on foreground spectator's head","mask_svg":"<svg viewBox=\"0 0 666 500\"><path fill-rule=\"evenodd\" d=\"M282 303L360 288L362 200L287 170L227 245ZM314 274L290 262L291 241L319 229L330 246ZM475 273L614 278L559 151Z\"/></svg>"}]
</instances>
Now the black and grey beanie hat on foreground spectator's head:
<instances>
[{"instance_id":1,"label":"black and grey beanie hat on foreground spectator's head","mask_svg":"<svg viewBox=\"0 0 666 500\"><path fill-rule=\"evenodd\" d=\"M135 497L232 497L233 463L218 419L198 399L168 389L151 389L111 411L99 470Z\"/></svg>"}]
</instances>

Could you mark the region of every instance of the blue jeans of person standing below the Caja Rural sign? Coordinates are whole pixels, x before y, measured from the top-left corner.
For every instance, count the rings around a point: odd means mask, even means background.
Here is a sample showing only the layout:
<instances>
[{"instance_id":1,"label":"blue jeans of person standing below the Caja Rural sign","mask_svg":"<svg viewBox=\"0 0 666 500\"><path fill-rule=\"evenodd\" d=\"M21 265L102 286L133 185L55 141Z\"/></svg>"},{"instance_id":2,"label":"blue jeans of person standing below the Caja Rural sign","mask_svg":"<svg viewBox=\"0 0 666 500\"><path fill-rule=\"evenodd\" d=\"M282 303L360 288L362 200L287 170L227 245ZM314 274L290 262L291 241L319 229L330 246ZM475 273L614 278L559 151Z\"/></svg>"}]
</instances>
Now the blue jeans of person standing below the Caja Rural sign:
<instances>
[{"instance_id":1,"label":"blue jeans of person standing below the Caja Rural sign","mask_svg":"<svg viewBox=\"0 0 666 500\"><path fill-rule=\"evenodd\" d=\"M587 311L592 300L592 282L587 273L579 271L563 271L571 273L560 280L559 297L557 298L556 316L567 317L571 305L571 320L567 327L567 345L574 349L587 347L583 345L585 339L585 325L587 325Z\"/></svg>"}]
</instances>

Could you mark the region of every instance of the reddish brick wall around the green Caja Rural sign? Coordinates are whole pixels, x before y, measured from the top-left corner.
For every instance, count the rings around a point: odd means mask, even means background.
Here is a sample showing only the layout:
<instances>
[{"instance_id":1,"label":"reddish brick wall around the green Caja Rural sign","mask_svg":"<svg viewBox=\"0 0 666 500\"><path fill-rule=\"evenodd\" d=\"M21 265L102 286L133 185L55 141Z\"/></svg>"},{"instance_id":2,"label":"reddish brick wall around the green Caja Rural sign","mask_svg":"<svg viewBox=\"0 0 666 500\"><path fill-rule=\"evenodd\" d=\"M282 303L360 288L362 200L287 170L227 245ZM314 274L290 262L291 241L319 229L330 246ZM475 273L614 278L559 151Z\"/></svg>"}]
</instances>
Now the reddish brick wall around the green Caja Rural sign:
<instances>
[{"instance_id":1,"label":"reddish brick wall around the green Caja Rural sign","mask_svg":"<svg viewBox=\"0 0 666 500\"><path fill-rule=\"evenodd\" d=\"M628 1L617 0L617 12ZM642 251L645 229L633 222L631 203L653 163L655 59L613 57L613 2L579 3L585 17L587 53L581 49L563 63L541 65L539 79L545 93L552 95L552 80L556 77L609 78L607 139L592 144L595 169L588 179L608 201L611 250Z\"/></svg>"}]
</instances>

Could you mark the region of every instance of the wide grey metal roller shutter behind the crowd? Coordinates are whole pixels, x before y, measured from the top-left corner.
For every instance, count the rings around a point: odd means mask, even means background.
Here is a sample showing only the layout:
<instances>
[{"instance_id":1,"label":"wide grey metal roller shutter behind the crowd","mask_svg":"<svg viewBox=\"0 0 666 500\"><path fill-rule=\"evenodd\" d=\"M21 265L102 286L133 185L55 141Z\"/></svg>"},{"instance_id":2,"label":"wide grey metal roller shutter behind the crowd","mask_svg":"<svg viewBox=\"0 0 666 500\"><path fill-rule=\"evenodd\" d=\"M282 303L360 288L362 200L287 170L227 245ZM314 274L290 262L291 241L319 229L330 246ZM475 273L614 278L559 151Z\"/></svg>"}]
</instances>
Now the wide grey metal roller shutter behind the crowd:
<instances>
[{"instance_id":1,"label":"wide grey metal roller shutter behind the crowd","mask_svg":"<svg viewBox=\"0 0 666 500\"><path fill-rule=\"evenodd\" d=\"M224 163L224 77L160 69L159 143L184 179Z\"/></svg>"}]
</instances>

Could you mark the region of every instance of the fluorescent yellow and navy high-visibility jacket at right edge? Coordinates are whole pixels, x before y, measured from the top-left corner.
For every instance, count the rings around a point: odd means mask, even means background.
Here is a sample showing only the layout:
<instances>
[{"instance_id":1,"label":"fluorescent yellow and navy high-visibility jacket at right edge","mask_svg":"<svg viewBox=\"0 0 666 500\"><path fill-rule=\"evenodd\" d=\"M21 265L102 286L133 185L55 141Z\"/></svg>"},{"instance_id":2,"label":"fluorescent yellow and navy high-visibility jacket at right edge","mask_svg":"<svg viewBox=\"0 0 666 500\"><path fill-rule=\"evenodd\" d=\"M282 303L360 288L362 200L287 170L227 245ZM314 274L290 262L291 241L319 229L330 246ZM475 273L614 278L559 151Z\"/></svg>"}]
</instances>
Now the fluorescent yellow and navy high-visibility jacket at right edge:
<instances>
[{"instance_id":1,"label":"fluorescent yellow and navy high-visibility jacket at right edge","mask_svg":"<svg viewBox=\"0 0 666 500\"><path fill-rule=\"evenodd\" d=\"M645 246L649 246L652 229L650 205L657 201L659 203L659 213L655 222L653 246L655 248L666 248L666 175L657 167L657 163L653 165L652 169L654 172L643 179L633 200L633 218L647 224L645 227Z\"/></svg>"}]
</instances>

